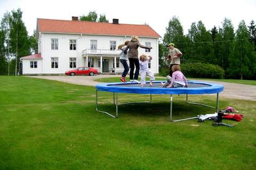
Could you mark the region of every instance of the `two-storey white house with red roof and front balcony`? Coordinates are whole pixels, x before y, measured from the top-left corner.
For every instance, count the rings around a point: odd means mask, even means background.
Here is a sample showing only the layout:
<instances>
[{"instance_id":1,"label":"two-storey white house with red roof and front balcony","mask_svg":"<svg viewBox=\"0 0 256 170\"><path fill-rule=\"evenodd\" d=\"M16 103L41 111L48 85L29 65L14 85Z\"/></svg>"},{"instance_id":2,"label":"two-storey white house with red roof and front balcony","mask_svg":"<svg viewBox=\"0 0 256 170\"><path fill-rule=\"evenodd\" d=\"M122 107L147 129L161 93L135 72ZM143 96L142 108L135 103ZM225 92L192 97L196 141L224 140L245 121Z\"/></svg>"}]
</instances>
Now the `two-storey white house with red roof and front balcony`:
<instances>
[{"instance_id":1,"label":"two-storey white house with red roof and front balcony","mask_svg":"<svg viewBox=\"0 0 256 170\"><path fill-rule=\"evenodd\" d=\"M150 67L158 73L158 38L149 25L72 20L37 19L38 54L22 57L22 74L64 74L80 66L97 68L100 73L123 71L118 45L138 36L139 55L151 55Z\"/></svg>"}]
</instances>

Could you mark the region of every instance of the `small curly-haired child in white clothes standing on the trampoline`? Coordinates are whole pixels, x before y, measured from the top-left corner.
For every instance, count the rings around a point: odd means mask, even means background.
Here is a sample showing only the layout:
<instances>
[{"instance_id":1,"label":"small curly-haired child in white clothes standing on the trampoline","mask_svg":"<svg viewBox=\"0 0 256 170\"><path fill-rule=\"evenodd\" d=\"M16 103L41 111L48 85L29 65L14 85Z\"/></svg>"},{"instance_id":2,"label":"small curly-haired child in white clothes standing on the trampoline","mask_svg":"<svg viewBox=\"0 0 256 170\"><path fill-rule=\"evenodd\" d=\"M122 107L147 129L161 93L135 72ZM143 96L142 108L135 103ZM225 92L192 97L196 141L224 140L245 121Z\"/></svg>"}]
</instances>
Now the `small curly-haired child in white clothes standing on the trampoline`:
<instances>
[{"instance_id":1,"label":"small curly-haired child in white clothes standing on the trampoline","mask_svg":"<svg viewBox=\"0 0 256 170\"><path fill-rule=\"evenodd\" d=\"M151 69L148 68L148 62L152 60L152 57L151 56L146 56L144 54L142 54L140 56L140 84L141 84L141 87L144 86L144 84L146 84L146 74L149 75L149 78L150 78L150 83L149 85L152 86L152 81L155 80L155 77L154 77L154 73L151 71Z\"/></svg>"}]
</instances>

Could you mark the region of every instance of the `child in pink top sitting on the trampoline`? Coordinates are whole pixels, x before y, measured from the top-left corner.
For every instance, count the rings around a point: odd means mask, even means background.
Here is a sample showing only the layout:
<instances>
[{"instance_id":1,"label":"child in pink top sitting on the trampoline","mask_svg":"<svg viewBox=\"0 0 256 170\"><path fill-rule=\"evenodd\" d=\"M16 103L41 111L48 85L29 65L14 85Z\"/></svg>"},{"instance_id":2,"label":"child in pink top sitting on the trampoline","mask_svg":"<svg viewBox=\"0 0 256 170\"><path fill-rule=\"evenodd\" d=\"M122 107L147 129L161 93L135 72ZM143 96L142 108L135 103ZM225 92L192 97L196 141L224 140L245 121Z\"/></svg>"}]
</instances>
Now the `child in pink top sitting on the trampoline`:
<instances>
[{"instance_id":1,"label":"child in pink top sitting on the trampoline","mask_svg":"<svg viewBox=\"0 0 256 170\"><path fill-rule=\"evenodd\" d=\"M165 83L161 82L163 87L188 87L188 80L180 71L180 65L173 65L172 72L172 77L167 75L167 81Z\"/></svg>"}]
</instances>

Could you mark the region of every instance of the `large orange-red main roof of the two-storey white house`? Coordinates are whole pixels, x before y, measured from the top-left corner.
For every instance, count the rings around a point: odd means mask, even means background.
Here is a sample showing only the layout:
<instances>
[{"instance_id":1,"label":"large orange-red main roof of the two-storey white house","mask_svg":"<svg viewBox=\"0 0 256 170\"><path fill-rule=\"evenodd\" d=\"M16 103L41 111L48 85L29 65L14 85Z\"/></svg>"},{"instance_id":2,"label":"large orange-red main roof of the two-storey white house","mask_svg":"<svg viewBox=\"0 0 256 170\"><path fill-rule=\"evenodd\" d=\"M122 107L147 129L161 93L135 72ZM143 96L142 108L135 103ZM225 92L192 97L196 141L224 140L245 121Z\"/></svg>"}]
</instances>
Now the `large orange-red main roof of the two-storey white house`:
<instances>
[{"instance_id":1,"label":"large orange-red main roof of the two-storey white house","mask_svg":"<svg viewBox=\"0 0 256 170\"><path fill-rule=\"evenodd\" d=\"M39 32L84 33L92 35L161 37L156 31L149 27L149 25L113 24L106 22L51 20L39 18L37 19L37 30Z\"/></svg>"}]
</instances>

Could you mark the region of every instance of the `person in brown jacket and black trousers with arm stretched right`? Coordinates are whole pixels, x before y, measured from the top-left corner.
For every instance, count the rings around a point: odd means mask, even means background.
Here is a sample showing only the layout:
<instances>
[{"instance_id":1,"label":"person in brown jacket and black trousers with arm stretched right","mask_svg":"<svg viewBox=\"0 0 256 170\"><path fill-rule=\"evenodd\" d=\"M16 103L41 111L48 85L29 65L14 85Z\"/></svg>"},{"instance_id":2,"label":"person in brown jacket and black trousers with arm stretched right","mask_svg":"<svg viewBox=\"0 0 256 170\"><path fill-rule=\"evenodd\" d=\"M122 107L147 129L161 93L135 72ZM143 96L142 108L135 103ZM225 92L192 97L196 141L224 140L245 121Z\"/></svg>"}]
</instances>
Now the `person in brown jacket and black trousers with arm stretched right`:
<instances>
[{"instance_id":1,"label":"person in brown jacket and black trousers with arm stretched right","mask_svg":"<svg viewBox=\"0 0 256 170\"><path fill-rule=\"evenodd\" d=\"M128 58L129 58L129 63L130 63L130 81L131 82L137 82L139 78L139 73L140 73L140 62L138 58L138 48L146 48L146 49L151 49L152 47L146 47L140 44L139 38L137 36L132 36L131 41L127 44L124 54L127 54L127 50L129 49L128 52ZM134 71L134 65L136 67L135 74L133 77L133 71Z\"/></svg>"}]
</instances>

